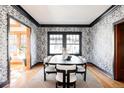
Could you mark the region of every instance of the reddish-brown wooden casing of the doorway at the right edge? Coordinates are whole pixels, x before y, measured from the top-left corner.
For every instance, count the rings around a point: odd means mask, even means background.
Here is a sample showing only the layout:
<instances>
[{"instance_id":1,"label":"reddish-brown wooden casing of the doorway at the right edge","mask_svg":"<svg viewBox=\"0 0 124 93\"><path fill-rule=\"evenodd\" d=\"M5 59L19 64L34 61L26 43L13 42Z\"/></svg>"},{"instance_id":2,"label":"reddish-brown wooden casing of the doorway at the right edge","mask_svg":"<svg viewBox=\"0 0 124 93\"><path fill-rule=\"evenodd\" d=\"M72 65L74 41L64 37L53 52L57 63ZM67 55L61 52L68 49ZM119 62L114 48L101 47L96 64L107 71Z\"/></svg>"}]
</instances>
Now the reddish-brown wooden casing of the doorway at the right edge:
<instances>
[{"instance_id":1,"label":"reddish-brown wooden casing of the doorway at the right edge","mask_svg":"<svg viewBox=\"0 0 124 93\"><path fill-rule=\"evenodd\" d=\"M119 25L124 25L124 18L115 22L113 24L114 27L114 65L113 65L113 71L114 71L114 80L123 81L122 77L120 76L120 53L119 53L119 37L120 37L120 31L119 31Z\"/></svg>"}]
</instances>

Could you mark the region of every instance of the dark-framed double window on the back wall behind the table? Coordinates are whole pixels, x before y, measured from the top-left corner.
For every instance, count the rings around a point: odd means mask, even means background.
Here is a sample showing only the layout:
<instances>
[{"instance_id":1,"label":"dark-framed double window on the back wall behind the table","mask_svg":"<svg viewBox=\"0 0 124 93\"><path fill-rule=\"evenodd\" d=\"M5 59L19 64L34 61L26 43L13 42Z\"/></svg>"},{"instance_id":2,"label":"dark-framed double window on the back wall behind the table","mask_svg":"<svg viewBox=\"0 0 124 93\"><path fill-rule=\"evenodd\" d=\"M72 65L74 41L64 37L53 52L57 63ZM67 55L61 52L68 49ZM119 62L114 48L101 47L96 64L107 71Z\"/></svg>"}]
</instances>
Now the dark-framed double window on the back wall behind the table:
<instances>
[{"instance_id":1,"label":"dark-framed double window on the back wall behind the table","mask_svg":"<svg viewBox=\"0 0 124 93\"><path fill-rule=\"evenodd\" d=\"M62 54L63 48L81 55L81 32L48 32L48 55Z\"/></svg>"}]
</instances>

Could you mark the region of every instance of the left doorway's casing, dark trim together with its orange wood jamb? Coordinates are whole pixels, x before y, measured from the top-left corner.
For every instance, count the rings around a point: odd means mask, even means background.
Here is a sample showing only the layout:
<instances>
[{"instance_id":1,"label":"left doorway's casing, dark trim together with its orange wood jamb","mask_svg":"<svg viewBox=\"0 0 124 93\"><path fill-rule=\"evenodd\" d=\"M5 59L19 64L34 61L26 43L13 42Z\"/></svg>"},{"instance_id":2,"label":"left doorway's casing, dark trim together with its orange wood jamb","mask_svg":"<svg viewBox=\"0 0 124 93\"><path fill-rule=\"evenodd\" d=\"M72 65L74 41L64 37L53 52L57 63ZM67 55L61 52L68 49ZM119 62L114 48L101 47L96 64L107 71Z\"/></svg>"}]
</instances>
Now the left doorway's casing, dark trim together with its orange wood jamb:
<instances>
[{"instance_id":1,"label":"left doorway's casing, dark trim together with its orange wood jamb","mask_svg":"<svg viewBox=\"0 0 124 93\"><path fill-rule=\"evenodd\" d=\"M20 20L16 19L15 17L7 14L7 82L10 83L10 58L9 58L9 32L10 32L10 18L18 21L20 24L23 24L24 26L27 27L27 30L29 32L29 38L28 38L28 50L27 52L29 53L28 55L28 67L27 69L31 69L31 27L29 27L28 25L26 25L25 23L21 22Z\"/></svg>"}]
</instances>

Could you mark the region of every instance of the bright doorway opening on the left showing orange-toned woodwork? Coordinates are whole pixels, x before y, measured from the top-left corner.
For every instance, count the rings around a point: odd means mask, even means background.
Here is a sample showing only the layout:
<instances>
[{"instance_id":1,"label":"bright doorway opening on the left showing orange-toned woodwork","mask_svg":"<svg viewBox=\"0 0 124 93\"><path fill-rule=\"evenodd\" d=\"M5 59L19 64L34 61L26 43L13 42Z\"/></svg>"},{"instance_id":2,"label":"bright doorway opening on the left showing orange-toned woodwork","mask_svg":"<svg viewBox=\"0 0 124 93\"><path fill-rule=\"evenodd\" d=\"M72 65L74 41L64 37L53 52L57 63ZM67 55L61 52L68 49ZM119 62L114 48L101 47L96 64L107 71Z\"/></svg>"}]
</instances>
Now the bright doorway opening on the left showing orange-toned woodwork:
<instances>
[{"instance_id":1,"label":"bright doorway opening on the left showing orange-toned woodwork","mask_svg":"<svg viewBox=\"0 0 124 93\"><path fill-rule=\"evenodd\" d=\"M24 78L26 71L31 68L31 29L12 16L9 16L8 24L9 80L14 83L20 77Z\"/></svg>"}]
</instances>

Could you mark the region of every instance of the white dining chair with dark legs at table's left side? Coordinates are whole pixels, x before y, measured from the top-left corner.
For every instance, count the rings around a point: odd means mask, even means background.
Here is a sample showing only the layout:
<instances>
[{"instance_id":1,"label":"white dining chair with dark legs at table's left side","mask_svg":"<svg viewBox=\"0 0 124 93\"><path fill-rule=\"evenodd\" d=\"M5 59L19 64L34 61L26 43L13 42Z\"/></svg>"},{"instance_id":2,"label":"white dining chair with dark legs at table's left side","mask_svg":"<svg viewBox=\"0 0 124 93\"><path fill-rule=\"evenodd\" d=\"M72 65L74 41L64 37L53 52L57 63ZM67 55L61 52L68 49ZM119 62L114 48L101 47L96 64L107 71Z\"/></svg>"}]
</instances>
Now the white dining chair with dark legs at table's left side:
<instances>
[{"instance_id":1,"label":"white dining chair with dark legs at table's left side","mask_svg":"<svg viewBox=\"0 0 124 93\"><path fill-rule=\"evenodd\" d=\"M50 65L49 61L52 56L47 56L44 58L44 81L46 81L46 74L56 73L55 65Z\"/></svg>"}]
</instances>

